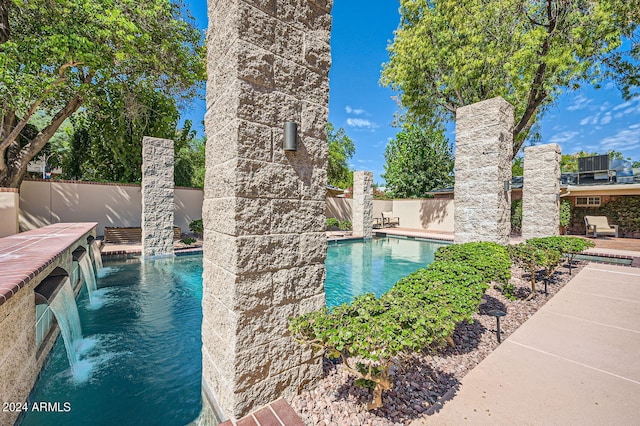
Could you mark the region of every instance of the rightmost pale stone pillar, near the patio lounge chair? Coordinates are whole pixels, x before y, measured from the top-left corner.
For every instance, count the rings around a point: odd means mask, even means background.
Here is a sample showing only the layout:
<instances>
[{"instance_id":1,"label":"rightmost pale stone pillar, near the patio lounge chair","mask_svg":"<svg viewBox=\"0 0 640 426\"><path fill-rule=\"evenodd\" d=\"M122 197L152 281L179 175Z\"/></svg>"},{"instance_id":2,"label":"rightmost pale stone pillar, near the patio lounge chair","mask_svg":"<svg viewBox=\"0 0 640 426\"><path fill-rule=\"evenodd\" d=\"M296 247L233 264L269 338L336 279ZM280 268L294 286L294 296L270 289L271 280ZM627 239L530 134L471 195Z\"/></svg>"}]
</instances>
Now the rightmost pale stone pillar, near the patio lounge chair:
<instances>
[{"instance_id":1,"label":"rightmost pale stone pillar, near the patio lounge chair","mask_svg":"<svg viewBox=\"0 0 640 426\"><path fill-rule=\"evenodd\" d=\"M558 235L560 227L560 146L524 149L522 188L522 238Z\"/></svg>"}]
</instances>

